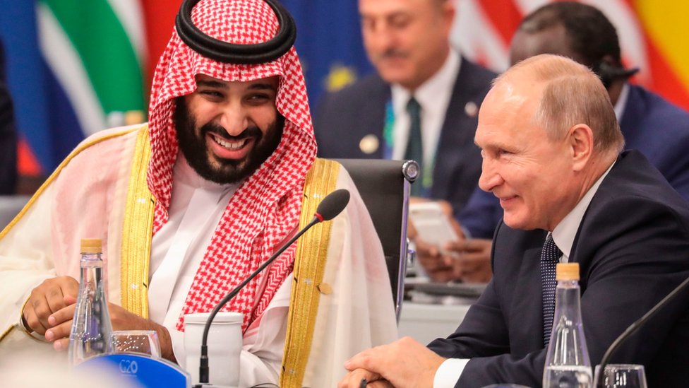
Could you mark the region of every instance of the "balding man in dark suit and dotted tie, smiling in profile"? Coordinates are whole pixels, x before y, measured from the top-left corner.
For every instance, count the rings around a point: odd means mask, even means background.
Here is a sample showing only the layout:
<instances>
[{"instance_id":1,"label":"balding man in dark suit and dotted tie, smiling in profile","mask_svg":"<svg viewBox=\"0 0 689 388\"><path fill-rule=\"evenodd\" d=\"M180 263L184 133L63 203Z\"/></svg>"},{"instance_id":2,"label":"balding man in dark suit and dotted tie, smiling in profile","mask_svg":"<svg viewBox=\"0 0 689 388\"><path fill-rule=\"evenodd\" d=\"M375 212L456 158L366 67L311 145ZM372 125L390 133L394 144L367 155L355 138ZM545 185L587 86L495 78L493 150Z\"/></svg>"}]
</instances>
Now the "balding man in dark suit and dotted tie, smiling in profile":
<instances>
[{"instance_id":1,"label":"balding man in dark suit and dotted tie, smiling in profile","mask_svg":"<svg viewBox=\"0 0 689 388\"><path fill-rule=\"evenodd\" d=\"M495 276L455 333L425 348L400 339L345 363L340 387L388 380L395 387L539 387L547 265L580 264L589 355L599 363L629 324L689 276L689 204L638 151L625 151L599 78L571 59L543 54L510 68L479 113L479 186L500 199ZM539 257L540 263L539 263ZM554 265L554 262L553 262ZM612 356L646 367L649 386L689 381L689 298L681 295Z\"/></svg>"}]
</instances>

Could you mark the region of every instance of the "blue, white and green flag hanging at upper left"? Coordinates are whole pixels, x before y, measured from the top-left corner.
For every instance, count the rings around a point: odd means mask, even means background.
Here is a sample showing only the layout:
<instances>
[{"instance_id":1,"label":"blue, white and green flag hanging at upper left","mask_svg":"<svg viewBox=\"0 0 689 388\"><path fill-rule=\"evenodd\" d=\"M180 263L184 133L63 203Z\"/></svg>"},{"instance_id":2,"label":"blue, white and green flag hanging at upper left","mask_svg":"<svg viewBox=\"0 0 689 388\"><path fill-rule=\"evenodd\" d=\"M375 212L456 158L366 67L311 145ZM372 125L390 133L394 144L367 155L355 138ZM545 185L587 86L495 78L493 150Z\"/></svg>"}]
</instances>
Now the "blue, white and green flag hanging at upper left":
<instances>
[{"instance_id":1,"label":"blue, white and green flag hanging at upper left","mask_svg":"<svg viewBox=\"0 0 689 388\"><path fill-rule=\"evenodd\" d=\"M19 169L45 175L86 136L145 121L139 0L8 1L0 18Z\"/></svg>"}]
</instances>

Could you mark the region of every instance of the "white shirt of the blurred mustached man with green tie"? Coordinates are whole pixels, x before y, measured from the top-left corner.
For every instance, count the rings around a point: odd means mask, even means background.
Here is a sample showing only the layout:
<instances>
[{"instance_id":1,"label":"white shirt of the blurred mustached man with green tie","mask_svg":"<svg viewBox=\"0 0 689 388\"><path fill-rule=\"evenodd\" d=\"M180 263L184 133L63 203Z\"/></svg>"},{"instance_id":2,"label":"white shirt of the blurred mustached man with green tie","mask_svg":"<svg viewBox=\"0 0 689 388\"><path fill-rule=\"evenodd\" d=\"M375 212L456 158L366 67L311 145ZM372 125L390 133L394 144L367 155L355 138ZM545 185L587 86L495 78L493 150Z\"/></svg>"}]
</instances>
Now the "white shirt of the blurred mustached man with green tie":
<instances>
[{"instance_id":1,"label":"white shirt of the blurred mustached man with green tie","mask_svg":"<svg viewBox=\"0 0 689 388\"><path fill-rule=\"evenodd\" d=\"M448 58L441 69L426 80L417 90L414 90L414 98L421 105L421 140L424 146L424 160L422 163L431 163L435 158L436 147L441 136L445 113L450 105L453 86L460 73L460 54L450 48ZM407 114L407 102L412 93L398 84L391 87L393 99L393 159L405 158L407 142L409 139L409 114Z\"/></svg>"}]
</instances>

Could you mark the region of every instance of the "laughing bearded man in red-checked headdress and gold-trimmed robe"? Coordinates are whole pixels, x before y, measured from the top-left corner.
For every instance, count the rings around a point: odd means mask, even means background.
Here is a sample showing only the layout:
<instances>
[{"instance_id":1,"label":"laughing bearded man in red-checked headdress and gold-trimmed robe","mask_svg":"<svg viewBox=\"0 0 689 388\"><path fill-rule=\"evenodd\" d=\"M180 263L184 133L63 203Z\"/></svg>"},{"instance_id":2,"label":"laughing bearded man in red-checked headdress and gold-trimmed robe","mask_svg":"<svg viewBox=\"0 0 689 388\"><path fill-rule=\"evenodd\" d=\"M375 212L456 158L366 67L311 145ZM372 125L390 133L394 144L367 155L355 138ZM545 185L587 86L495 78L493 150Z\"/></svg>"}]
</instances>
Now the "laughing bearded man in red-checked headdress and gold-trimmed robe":
<instances>
[{"instance_id":1,"label":"laughing bearded man in red-checked headdress and gold-trimmed robe","mask_svg":"<svg viewBox=\"0 0 689 388\"><path fill-rule=\"evenodd\" d=\"M295 37L275 0L184 1L148 124L86 139L0 233L0 364L66 360L79 240L96 237L113 329L157 331L184 368L184 316L210 312L335 189L352 194L342 215L222 309L244 314L239 386L332 387L344 360L395 339L369 213L344 168L316 158Z\"/></svg>"}]
</instances>

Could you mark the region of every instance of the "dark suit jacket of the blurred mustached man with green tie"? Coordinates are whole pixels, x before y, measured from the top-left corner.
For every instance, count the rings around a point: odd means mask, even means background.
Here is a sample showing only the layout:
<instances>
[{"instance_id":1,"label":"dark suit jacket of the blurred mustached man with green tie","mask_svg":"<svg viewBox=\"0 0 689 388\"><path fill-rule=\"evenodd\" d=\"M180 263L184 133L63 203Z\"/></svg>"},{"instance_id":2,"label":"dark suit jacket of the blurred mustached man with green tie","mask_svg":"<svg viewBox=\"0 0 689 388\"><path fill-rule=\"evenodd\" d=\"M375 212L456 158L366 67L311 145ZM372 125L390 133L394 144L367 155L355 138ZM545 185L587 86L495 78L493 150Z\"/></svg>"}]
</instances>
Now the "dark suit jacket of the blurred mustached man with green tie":
<instances>
[{"instance_id":1,"label":"dark suit jacket of the blurred mustached man with green tie","mask_svg":"<svg viewBox=\"0 0 689 388\"><path fill-rule=\"evenodd\" d=\"M495 76L462 58L453 86L438 141L429 196L449 201L455 215L467 203L481 175L481 153L474 144L478 117L467 114L465 106L473 102L479 107ZM318 155L322 158L383 158L383 127L388 101L390 85L377 74L325 95L318 103L313 121ZM364 153L359 148L359 141L367 135L376 136L380 144L373 153Z\"/></svg>"}]
</instances>

